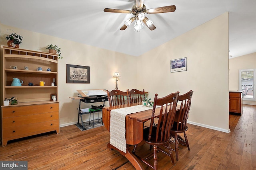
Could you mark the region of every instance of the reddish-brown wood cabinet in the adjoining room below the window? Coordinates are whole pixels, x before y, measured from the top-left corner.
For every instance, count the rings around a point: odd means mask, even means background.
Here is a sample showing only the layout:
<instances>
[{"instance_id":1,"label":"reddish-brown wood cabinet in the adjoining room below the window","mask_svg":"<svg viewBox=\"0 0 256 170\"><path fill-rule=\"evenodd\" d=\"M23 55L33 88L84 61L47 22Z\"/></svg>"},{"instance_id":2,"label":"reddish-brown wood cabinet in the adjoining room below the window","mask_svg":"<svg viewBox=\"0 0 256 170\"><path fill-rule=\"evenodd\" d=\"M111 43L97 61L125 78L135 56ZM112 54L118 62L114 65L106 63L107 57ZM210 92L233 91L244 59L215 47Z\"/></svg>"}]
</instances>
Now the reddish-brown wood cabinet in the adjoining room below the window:
<instances>
[{"instance_id":1,"label":"reddish-brown wood cabinet in the adjoining room below the window","mask_svg":"<svg viewBox=\"0 0 256 170\"><path fill-rule=\"evenodd\" d=\"M229 112L243 113L243 100L242 91L230 91L229 92Z\"/></svg>"}]
</instances>

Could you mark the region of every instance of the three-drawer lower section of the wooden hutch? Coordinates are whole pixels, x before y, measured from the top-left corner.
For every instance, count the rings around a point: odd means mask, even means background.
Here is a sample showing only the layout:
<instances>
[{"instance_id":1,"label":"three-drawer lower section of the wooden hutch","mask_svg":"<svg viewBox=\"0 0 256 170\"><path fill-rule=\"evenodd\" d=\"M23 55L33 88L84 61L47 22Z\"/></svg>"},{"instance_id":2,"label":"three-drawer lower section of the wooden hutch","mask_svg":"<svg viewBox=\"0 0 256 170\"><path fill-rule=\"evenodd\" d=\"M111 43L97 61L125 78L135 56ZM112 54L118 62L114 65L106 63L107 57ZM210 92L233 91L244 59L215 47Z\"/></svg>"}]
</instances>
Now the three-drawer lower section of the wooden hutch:
<instances>
[{"instance_id":1,"label":"three-drawer lower section of the wooden hutch","mask_svg":"<svg viewBox=\"0 0 256 170\"><path fill-rule=\"evenodd\" d=\"M2 146L13 139L56 131L60 133L59 104L2 107Z\"/></svg>"}]
</instances>

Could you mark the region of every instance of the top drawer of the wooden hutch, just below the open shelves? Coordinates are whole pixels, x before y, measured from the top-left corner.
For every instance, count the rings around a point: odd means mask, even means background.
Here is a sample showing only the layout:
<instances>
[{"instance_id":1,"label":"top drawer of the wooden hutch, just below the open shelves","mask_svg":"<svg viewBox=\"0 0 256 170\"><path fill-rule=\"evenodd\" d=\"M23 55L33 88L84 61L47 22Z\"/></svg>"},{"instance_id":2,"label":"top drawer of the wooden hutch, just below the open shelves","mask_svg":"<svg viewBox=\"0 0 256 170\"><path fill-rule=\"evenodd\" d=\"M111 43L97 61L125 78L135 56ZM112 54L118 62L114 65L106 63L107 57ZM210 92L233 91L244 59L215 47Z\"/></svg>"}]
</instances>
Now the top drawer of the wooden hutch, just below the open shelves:
<instances>
[{"instance_id":1,"label":"top drawer of the wooden hutch, just below the open shelves","mask_svg":"<svg viewBox=\"0 0 256 170\"><path fill-rule=\"evenodd\" d=\"M48 113L59 111L59 104L40 104L30 106L10 106L2 108L2 115L4 117L15 117L23 115L32 115L38 113Z\"/></svg>"}]
</instances>

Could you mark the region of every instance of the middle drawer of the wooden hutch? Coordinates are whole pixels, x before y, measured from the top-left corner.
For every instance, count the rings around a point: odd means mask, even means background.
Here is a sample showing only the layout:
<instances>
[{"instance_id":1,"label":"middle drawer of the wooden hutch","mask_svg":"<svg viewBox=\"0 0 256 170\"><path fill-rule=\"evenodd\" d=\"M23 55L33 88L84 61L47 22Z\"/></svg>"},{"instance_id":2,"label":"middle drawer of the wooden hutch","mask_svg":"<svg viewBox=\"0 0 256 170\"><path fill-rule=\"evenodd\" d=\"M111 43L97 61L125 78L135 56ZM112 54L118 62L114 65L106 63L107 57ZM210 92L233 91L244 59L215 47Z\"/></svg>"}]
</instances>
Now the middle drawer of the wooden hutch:
<instances>
[{"instance_id":1,"label":"middle drawer of the wooden hutch","mask_svg":"<svg viewBox=\"0 0 256 170\"><path fill-rule=\"evenodd\" d=\"M3 119L2 127L3 129L6 129L9 127L28 125L44 121L52 121L57 119L59 119L58 111L50 113L33 114L27 116L6 117Z\"/></svg>"}]
</instances>

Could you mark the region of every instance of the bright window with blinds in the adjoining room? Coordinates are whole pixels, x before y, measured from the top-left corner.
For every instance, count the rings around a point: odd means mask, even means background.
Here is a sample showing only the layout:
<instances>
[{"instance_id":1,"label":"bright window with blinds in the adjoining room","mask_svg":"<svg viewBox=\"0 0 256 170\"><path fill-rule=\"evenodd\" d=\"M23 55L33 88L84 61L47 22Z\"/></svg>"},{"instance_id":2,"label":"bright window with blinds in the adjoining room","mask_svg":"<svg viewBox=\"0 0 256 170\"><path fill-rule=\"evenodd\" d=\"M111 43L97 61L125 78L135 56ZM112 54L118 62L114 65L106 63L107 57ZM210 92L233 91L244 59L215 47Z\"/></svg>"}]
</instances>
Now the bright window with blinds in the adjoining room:
<instances>
[{"instance_id":1,"label":"bright window with blinds in the adjoining room","mask_svg":"<svg viewBox=\"0 0 256 170\"><path fill-rule=\"evenodd\" d=\"M256 69L239 70L239 87L244 100L255 101L255 74Z\"/></svg>"}]
</instances>

